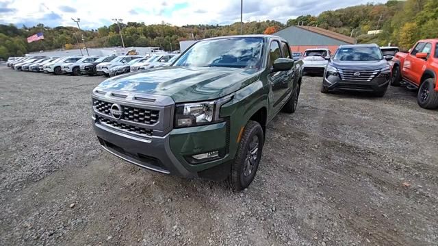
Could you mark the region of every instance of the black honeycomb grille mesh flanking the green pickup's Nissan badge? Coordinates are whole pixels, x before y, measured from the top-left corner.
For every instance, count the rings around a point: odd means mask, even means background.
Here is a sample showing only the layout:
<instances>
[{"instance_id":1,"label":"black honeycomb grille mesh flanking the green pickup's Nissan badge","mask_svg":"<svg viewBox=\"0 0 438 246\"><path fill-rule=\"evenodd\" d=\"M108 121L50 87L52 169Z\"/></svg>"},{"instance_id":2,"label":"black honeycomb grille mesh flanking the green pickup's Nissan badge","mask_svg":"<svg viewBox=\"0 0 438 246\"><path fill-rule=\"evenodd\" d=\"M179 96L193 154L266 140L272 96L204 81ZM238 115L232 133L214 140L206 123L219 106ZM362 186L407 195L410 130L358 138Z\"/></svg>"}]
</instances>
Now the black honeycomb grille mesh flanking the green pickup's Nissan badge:
<instances>
[{"instance_id":1,"label":"black honeycomb grille mesh flanking the green pickup's Nissan badge","mask_svg":"<svg viewBox=\"0 0 438 246\"><path fill-rule=\"evenodd\" d=\"M110 109L113 103L93 99L94 108L109 116L112 116ZM145 108L136 108L131 106L120 105L123 108L123 114L120 119L125 121L132 121L135 123L142 123L146 125L153 125L159 120L159 110L149 110Z\"/></svg>"}]
</instances>

